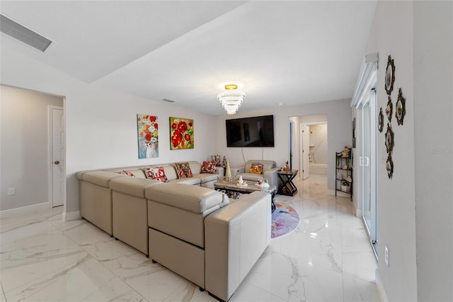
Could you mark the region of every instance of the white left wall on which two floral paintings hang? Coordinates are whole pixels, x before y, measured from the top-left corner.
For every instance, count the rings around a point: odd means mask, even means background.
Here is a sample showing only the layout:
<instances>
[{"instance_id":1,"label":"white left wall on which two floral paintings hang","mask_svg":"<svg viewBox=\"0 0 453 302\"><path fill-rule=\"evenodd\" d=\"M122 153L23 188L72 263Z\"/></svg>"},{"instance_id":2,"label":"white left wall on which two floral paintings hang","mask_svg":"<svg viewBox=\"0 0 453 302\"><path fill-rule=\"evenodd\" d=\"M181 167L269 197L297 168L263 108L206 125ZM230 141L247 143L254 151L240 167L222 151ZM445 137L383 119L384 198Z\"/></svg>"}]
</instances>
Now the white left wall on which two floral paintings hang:
<instances>
[{"instance_id":1,"label":"white left wall on which two floral paintings hang","mask_svg":"<svg viewBox=\"0 0 453 302\"><path fill-rule=\"evenodd\" d=\"M79 210L79 182L75 176L78 171L181 160L202 161L208 155L216 154L212 143L214 116L183 109L177 104L101 89L4 48L1 50L1 84L65 96L66 213ZM138 159L137 113L153 114L159 118L157 158ZM170 150L170 116L194 120L194 149Z\"/></svg>"}]
</instances>

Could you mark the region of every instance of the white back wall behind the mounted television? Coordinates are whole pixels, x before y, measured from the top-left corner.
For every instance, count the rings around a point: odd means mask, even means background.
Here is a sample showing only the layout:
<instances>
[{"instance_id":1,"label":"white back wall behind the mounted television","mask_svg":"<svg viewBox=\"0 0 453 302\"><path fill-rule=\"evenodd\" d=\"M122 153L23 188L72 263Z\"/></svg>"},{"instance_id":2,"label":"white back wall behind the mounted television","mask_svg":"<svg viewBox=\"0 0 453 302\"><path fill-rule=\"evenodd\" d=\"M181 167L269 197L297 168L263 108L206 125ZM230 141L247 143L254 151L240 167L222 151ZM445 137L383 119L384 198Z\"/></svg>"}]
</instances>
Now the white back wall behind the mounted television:
<instances>
[{"instance_id":1,"label":"white back wall behind the mounted television","mask_svg":"<svg viewBox=\"0 0 453 302\"><path fill-rule=\"evenodd\" d=\"M300 106L282 106L273 110L241 111L234 118L246 116L274 115L275 147L226 147L225 120L231 116L217 116L216 121L216 150L220 155L226 155L231 167L243 165L247 160L275 160L277 167L282 167L289 160L289 120L296 121L295 147L292 161L294 167L299 167L299 119L293 117L326 114L328 116L328 190L335 194L335 150L343 150L350 146L352 140L350 99L325 101Z\"/></svg>"}]
</instances>

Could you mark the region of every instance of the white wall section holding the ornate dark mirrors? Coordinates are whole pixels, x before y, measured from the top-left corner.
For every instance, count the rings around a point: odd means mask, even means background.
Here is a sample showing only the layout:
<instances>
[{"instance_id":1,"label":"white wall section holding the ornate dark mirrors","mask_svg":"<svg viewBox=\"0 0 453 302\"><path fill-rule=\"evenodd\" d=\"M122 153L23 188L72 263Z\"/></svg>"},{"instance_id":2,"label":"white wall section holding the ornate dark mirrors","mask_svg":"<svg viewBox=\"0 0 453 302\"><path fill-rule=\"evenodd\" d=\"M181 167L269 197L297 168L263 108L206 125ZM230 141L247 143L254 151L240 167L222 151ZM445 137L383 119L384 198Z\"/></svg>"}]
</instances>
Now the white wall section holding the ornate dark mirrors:
<instances>
[{"instance_id":1,"label":"white wall section holding the ornate dark mirrors","mask_svg":"<svg viewBox=\"0 0 453 302\"><path fill-rule=\"evenodd\" d=\"M415 245L415 155L413 106L413 2L379 1L366 53L379 52L377 74L377 111L385 111L387 96L384 75L387 56L395 62L395 104L398 88L406 97L403 125L391 118L394 149L391 153L394 174L386 172L384 130L377 133L377 234L378 270L389 301L417 301L417 269ZM394 105L395 107L395 105ZM384 262L384 248L389 248L389 267Z\"/></svg>"}]
</instances>

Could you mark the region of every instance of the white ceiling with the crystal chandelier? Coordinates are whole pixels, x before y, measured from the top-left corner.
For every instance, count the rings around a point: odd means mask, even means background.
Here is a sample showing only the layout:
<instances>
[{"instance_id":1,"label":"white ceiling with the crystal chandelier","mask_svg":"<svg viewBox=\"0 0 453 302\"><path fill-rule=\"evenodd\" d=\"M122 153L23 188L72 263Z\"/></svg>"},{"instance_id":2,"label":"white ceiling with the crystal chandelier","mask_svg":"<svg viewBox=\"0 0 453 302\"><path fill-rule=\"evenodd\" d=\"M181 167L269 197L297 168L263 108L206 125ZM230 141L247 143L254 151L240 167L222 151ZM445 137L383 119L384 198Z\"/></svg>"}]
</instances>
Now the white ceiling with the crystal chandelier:
<instances>
[{"instance_id":1,"label":"white ceiling with the crystal chandelier","mask_svg":"<svg viewBox=\"0 0 453 302\"><path fill-rule=\"evenodd\" d=\"M71 77L154 101L224 114L352 97L376 1L1 1L54 41L45 52L1 34L1 47Z\"/></svg>"}]
</instances>

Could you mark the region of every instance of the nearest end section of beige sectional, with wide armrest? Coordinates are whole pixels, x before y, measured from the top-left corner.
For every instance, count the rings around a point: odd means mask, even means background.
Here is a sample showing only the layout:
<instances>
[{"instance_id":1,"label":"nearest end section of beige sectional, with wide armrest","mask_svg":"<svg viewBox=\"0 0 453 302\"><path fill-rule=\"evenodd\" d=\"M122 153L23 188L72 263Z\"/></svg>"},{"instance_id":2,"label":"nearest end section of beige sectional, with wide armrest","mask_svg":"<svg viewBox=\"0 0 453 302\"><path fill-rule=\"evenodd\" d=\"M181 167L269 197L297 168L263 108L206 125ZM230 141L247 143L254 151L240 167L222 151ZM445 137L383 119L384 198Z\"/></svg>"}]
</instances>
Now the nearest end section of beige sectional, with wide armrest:
<instances>
[{"instance_id":1,"label":"nearest end section of beige sectional, with wide armrest","mask_svg":"<svg viewBox=\"0 0 453 302\"><path fill-rule=\"evenodd\" d=\"M168 185L146 196L149 257L228 301L270 243L270 194L229 203L217 191Z\"/></svg>"}]
</instances>

